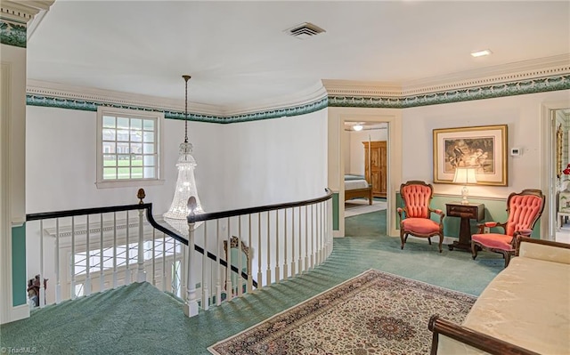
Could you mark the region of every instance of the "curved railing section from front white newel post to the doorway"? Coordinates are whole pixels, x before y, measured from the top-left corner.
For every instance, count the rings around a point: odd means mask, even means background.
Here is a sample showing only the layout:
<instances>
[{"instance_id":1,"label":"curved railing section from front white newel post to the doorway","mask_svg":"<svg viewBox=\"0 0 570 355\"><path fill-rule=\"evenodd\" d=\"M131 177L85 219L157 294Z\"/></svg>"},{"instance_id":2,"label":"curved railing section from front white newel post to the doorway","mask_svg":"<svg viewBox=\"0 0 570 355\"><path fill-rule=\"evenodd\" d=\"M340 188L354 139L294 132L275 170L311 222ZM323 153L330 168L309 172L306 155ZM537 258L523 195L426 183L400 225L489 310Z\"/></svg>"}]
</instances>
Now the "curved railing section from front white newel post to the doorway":
<instances>
[{"instance_id":1,"label":"curved railing section from front white newel post to the doorway","mask_svg":"<svg viewBox=\"0 0 570 355\"><path fill-rule=\"evenodd\" d=\"M189 214L184 313L195 316L200 308L208 310L324 262L332 252L333 234L332 193L325 191L321 198L304 201ZM204 254L191 253L197 241ZM233 256L232 246L237 250ZM222 255L218 260L238 272L204 257L208 254Z\"/></svg>"}]
</instances>

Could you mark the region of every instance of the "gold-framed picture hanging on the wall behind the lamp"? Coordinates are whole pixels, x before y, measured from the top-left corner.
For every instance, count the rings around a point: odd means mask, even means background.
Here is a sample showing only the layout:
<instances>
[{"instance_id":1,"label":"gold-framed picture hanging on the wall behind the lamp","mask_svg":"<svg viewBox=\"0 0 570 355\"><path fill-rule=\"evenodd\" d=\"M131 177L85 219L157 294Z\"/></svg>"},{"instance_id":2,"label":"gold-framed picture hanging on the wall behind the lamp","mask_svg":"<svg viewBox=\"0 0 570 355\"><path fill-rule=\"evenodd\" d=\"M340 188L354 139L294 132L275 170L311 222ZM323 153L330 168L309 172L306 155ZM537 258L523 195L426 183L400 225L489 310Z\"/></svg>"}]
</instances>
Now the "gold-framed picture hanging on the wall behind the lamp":
<instances>
[{"instance_id":1,"label":"gold-framed picture hanging on the wall behind the lamp","mask_svg":"<svg viewBox=\"0 0 570 355\"><path fill-rule=\"evenodd\" d=\"M477 184L507 186L507 125L434 130L434 182L453 183L455 167L476 168Z\"/></svg>"}]
</instances>

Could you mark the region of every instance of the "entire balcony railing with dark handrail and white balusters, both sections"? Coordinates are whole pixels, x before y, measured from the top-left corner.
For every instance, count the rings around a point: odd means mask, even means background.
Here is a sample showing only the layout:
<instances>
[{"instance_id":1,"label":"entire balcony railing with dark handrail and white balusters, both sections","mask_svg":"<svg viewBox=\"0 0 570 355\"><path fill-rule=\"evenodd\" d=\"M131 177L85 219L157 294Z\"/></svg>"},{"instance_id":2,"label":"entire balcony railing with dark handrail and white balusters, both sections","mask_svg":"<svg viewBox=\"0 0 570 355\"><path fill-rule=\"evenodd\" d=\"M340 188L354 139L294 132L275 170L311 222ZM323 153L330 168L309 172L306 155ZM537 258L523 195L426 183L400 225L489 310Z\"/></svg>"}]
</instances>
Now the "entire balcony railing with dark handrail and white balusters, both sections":
<instances>
[{"instance_id":1,"label":"entire balcony railing with dark handrail and white balusters, both sections","mask_svg":"<svg viewBox=\"0 0 570 355\"><path fill-rule=\"evenodd\" d=\"M310 270L332 251L331 193L189 215L177 230L140 203L27 215L30 305L44 307L131 282L183 298L185 313ZM40 280L45 279L45 282Z\"/></svg>"}]
</instances>

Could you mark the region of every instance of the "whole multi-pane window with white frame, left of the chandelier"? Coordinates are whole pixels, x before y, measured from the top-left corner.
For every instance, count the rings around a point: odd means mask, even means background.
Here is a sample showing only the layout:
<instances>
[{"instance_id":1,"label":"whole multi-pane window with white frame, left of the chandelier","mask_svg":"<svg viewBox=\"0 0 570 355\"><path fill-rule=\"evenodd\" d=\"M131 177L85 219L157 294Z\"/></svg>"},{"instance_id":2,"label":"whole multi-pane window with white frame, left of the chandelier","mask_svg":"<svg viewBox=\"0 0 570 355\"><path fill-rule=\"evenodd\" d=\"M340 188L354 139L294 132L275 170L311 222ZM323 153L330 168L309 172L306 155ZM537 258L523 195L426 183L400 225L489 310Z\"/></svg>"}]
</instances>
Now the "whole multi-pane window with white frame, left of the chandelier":
<instances>
[{"instance_id":1,"label":"whole multi-pane window with white frame, left of the chandelier","mask_svg":"<svg viewBox=\"0 0 570 355\"><path fill-rule=\"evenodd\" d=\"M162 183L161 130L164 114L97 109L97 187Z\"/></svg>"}]
</instances>

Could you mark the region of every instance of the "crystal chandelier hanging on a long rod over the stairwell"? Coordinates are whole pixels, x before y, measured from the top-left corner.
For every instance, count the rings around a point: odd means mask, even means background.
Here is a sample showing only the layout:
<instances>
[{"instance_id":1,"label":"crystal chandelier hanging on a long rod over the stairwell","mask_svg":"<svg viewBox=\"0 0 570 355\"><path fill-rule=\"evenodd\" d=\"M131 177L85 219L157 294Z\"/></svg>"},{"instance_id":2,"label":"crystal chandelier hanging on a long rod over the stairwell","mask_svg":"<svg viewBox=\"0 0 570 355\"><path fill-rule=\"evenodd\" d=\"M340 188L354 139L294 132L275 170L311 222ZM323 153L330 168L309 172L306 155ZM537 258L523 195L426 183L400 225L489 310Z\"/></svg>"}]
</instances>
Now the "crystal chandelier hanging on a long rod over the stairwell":
<instances>
[{"instance_id":1,"label":"crystal chandelier hanging on a long rod over the stairwell","mask_svg":"<svg viewBox=\"0 0 570 355\"><path fill-rule=\"evenodd\" d=\"M176 181L175 197L168 212L163 214L164 220L175 227L176 230L186 234L188 225L186 217L193 212L194 214L203 214L204 210L199 203L198 190L196 189L196 181L194 180L194 168L196 160L191 156L192 145L188 142L188 80L190 76L182 76L186 82L185 105L184 105L184 142L180 144L178 153L178 180ZM196 205L193 210L188 206L188 199L196 198Z\"/></svg>"}]
</instances>

